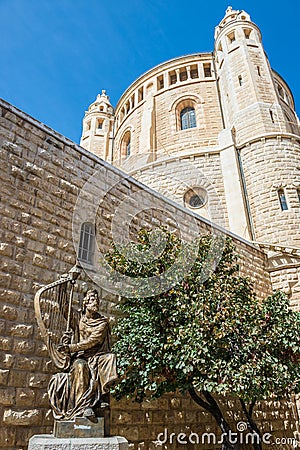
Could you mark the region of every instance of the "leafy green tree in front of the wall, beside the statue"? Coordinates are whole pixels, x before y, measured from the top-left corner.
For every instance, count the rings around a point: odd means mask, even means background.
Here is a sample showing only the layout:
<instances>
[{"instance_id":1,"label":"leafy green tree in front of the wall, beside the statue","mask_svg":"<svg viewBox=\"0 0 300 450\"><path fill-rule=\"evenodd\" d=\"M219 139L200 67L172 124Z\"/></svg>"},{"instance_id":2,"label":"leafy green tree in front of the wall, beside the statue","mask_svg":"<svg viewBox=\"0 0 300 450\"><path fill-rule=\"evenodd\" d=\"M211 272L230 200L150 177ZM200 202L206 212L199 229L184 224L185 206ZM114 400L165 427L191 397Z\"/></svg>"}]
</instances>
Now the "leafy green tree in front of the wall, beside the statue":
<instances>
[{"instance_id":1,"label":"leafy green tree in front of the wall, beside the statue","mask_svg":"<svg viewBox=\"0 0 300 450\"><path fill-rule=\"evenodd\" d=\"M147 283L172 266L183 244L164 233L166 245L153 261L130 259L130 245L113 246L107 262L116 281L118 273ZM139 251L148 252L152 241L151 233L141 230ZM249 429L260 435L252 416L255 403L299 392L300 379L300 314L280 292L259 300L250 280L239 274L237 260L230 239L202 236L190 272L166 292L124 298L115 328L121 373L116 398L142 402L176 390L189 393L216 420L224 450L238 444L229 439L232 430L218 394L237 397ZM261 448L260 442L253 445Z\"/></svg>"}]
</instances>

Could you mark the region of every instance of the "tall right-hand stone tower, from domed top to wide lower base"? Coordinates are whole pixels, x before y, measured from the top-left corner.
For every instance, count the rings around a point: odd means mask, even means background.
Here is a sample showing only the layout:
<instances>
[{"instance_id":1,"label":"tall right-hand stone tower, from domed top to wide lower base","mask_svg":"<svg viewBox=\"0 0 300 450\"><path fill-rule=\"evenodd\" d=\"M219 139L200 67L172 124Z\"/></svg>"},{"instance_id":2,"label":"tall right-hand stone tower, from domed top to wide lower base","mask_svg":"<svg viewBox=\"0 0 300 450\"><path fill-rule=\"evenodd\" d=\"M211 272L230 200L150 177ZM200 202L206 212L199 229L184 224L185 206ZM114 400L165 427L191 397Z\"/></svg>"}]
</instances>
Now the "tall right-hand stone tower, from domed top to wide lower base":
<instances>
[{"instance_id":1,"label":"tall right-hand stone tower, from domed top to wide lower base","mask_svg":"<svg viewBox=\"0 0 300 450\"><path fill-rule=\"evenodd\" d=\"M224 111L243 177L251 234L275 287L299 301L300 139L292 93L271 69L257 26L228 8L215 32Z\"/></svg>"}]
</instances>

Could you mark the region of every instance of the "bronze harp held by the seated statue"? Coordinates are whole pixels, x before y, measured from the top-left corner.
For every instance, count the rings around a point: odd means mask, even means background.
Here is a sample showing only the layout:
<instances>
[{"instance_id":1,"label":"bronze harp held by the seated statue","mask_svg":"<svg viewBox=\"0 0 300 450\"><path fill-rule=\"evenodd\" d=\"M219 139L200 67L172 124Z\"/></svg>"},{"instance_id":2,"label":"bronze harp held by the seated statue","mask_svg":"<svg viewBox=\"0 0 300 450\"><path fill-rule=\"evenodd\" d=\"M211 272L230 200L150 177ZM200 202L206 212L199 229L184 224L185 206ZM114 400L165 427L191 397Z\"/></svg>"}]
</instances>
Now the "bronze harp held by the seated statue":
<instances>
[{"instance_id":1,"label":"bronze harp held by the seated statue","mask_svg":"<svg viewBox=\"0 0 300 450\"><path fill-rule=\"evenodd\" d=\"M64 333L70 331L72 301L75 281L80 274L79 266L74 266L59 280L40 288L34 297L34 309L41 337L50 357L60 370L70 367L70 356L59 351Z\"/></svg>"}]
</instances>

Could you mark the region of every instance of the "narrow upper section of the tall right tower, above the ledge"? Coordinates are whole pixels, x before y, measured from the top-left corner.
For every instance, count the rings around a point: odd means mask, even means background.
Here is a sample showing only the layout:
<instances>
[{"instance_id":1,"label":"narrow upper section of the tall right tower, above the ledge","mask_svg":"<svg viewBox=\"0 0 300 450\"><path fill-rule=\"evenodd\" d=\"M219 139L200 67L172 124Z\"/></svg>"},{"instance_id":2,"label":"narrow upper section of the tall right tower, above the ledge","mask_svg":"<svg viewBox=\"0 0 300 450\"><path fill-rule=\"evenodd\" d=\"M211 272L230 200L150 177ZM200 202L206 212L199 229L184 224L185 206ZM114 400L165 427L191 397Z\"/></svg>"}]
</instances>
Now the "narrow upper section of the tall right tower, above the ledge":
<instances>
[{"instance_id":1,"label":"narrow upper section of the tall right tower, above the ledge","mask_svg":"<svg viewBox=\"0 0 300 450\"><path fill-rule=\"evenodd\" d=\"M233 131L237 144L261 134L290 131L277 74L248 13L228 7L215 29L215 59L225 127ZM287 100L293 107L293 99Z\"/></svg>"}]
</instances>

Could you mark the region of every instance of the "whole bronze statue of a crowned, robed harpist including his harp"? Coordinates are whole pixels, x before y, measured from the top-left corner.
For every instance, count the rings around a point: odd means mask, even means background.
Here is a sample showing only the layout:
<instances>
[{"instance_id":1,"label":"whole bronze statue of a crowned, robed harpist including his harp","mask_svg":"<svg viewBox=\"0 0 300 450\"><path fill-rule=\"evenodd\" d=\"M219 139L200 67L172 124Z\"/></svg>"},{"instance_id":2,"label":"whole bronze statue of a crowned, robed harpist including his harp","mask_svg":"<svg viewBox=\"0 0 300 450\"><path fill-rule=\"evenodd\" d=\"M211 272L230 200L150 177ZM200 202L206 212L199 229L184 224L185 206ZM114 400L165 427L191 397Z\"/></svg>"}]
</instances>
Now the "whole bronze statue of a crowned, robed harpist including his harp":
<instances>
[{"instance_id":1,"label":"whole bronze statue of a crowned, robed harpist including his harp","mask_svg":"<svg viewBox=\"0 0 300 450\"><path fill-rule=\"evenodd\" d=\"M72 278L69 274L68 277ZM73 284L77 276L73 275ZM66 279L67 277L64 278ZM69 281L72 283L72 280ZM58 282L56 282L57 285ZM56 288L56 286L53 287ZM56 290L61 291L61 285ZM76 311L72 307L72 290L69 302L67 295L60 295L65 301L49 300L53 295L50 296L47 292L48 300L44 300L43 308L41 308L43 302L40 291L37 293L38 299L35 302L38 323L40 328L42 327L42 336L46 340L53 362L62 370L51 377L48 386L53 416L56 420L86 417L97 421L99 411L109 407L109 386L117 380L116 356L111 353L109 319L99 313L98 292L87 291L82 309ZM56 314L59 320L64 317L67 324L66 331L59 340L56 339L56 342L53 339L55 333L49 332L46 327L49 312L45 311L49 302L52 306L55 305L51 316ZM50 308L48 309L50 311ZM55 323L53 327L58 329L58 323Z\"/></svg>"}]
</instances>

